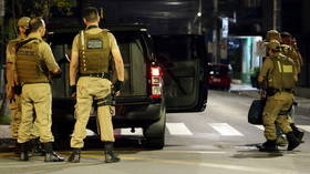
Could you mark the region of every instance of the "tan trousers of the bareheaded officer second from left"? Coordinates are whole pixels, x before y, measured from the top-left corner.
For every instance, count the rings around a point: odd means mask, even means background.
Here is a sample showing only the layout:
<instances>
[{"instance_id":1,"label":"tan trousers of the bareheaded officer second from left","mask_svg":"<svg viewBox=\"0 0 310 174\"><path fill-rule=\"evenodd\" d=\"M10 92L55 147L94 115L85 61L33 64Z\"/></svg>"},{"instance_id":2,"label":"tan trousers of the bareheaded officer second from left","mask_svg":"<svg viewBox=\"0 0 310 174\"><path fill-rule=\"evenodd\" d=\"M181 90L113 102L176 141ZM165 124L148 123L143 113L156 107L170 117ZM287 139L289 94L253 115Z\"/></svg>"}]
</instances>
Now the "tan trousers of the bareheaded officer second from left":
<instances>
[{"instance_id":1,"label":"tan trousers of the bareheaded officer second from left","mask_svg":"<svg viewBox=\"0 0 310 174\"><path fill-rule=\"evenodd\" d=\"M21 124L18 142L25 143L31 140L34 112L41 143L53 142L52 126L52 93L50 83L24 84L21 94Z\"/></svg>"}]
</instances>

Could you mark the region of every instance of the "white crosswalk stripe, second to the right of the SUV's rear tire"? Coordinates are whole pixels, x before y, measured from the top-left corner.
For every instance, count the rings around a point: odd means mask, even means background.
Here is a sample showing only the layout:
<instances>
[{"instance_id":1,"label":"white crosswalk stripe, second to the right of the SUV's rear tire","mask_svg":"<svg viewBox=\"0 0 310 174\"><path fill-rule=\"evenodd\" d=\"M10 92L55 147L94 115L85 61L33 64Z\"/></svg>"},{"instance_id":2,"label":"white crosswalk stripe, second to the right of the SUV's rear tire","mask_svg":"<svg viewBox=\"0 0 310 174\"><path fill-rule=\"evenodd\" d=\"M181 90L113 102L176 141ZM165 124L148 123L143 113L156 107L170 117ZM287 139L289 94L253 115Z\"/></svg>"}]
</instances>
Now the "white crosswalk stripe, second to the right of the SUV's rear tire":
<instances>
[{"instance_id":1,"label":"white crosswalk stripe, second to the right of the SUV's rear tire","mask_svg":"<svg viewBox=\"0 0 310 174\"><path fill-rule=\"evenodd\" d=\"M225 136L244 136L239 131L227 123L210 123L209 125Z\"/></svg>"}]
</instances>

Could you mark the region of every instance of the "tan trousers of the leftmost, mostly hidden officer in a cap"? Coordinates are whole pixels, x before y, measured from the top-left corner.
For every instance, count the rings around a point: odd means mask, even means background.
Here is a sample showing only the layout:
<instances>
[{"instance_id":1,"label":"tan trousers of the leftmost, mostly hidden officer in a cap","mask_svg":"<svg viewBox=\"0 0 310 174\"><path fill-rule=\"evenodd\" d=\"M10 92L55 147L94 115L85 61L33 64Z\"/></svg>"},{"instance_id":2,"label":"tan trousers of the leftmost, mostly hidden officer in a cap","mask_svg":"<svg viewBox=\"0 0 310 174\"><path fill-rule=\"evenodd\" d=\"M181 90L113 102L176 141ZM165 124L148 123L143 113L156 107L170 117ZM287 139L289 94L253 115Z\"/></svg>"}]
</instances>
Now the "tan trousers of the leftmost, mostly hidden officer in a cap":
<instances>
[{"instance_id":1,"label":"tan trousers of the leftmost, mostly hidden officer in a cap","mask_svg":"<svg viewBox=\"0 0 310 174\"><path fill-rule=\"evenodd\" d=\"M13 139L18 139L19 126L21 122L21 95L14 95L9 102L9 110L11 115L11 133ZM39 137L38 125L34 121L33 127L31 129L32 139Z\"/></svg>"}]
</instances>

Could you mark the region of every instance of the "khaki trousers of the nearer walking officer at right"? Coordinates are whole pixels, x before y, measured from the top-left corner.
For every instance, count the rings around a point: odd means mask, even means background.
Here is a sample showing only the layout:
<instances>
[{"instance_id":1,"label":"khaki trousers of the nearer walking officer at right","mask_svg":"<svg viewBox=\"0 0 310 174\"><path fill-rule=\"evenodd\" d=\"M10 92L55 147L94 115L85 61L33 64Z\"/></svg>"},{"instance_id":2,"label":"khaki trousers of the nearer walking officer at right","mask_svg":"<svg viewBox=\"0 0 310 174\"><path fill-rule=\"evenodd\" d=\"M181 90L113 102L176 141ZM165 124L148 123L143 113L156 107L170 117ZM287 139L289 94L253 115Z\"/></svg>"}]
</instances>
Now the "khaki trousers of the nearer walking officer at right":
<instances>
[{"instance_id":1,"label":"khaki trousers of the nearer walking officer at right","mask_svg":"<svg viewBox=\"0 0 310 174\"><path fill-rule=\"evenodd\" d=\"M265 136L267 140L276 140L276 125L280 126L285 134L291 132L288 115L279 115L280 111L288 111L293 102L293 94L288 92L277 92L268 96L262 113L262 123L265 126Z\"/></svg>"}]
</instances>

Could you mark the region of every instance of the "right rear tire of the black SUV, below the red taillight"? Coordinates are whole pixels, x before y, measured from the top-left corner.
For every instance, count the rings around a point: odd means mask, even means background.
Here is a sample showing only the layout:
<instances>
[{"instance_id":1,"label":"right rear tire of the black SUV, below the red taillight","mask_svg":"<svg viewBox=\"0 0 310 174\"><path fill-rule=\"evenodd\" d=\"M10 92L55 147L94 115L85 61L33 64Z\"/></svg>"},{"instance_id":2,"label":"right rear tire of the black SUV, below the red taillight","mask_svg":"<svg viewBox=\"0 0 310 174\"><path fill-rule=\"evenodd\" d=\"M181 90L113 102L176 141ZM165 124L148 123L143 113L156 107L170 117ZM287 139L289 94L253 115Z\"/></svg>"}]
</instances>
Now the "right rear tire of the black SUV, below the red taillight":
<instances>
[{"instance_id":1,"label":"right rear tire of the black SUV, below the red taillight","mask_svg":"<svg viewBox=\"0 0 310 174\"><path fill-rule=\"evenodd\" d=\"M161 111L161 119L143 129L145 146L162 150L165 146L166 108Z\"/></svg>"}]
</instances>

